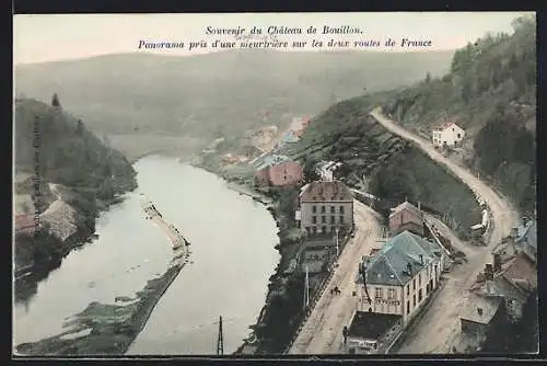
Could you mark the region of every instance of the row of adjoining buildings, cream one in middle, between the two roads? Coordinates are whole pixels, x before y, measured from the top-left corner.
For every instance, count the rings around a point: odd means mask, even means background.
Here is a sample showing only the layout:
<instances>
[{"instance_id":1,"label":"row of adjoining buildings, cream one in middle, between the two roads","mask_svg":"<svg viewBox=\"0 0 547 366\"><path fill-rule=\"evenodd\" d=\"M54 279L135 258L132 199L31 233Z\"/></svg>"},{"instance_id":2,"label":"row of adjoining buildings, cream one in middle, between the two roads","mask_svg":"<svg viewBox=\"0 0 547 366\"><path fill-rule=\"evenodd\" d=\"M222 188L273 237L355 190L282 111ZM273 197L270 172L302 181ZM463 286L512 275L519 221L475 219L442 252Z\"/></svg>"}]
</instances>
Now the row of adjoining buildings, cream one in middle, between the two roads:
<instances>
[{"instance_id":1,"label":"row of adjoining buildings, cream one in middle, between the two roads","mask_svg":"<svg viewBox=\"0 0 547 366\"><path fill-rule=\"evenodd\" d=\"M419 207L405 202L392 209L389 238L360 264L346 352L387 352L438 288L447 252L427 238Z\"/></svg>"}]
</instances>

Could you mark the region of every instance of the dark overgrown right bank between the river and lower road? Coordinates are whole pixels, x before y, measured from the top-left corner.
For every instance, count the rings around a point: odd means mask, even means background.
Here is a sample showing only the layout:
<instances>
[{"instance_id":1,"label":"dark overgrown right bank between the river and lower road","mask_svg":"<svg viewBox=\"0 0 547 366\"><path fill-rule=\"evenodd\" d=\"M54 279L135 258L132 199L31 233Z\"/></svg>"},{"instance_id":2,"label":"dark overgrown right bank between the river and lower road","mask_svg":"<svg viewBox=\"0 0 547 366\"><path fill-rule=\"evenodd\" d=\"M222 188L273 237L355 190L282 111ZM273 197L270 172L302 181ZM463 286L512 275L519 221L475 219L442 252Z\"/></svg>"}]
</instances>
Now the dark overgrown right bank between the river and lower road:
<instances>
[{"instance_id":1,"label":"dark overgrown right bank between the river and lower road","mask_svg":"<svg viewBox=\"0 0 547 366\"><path fill-rule=\"evenodd\" d=\"M264 204L276 221L279 242L275 249L279 252L280 260L269 278L265 305L256 322L249 325L253 332L234 355L280 354L304 316L303 278L300 271L295 271L295 256L302 238L292 217L298 187L257 190L253 184L253 176L226 173L197 162L193 162L193 165L221 176L228 182L229 188ZM282 202L286 203L284 206Z\"/></svg>"}]
</instances>

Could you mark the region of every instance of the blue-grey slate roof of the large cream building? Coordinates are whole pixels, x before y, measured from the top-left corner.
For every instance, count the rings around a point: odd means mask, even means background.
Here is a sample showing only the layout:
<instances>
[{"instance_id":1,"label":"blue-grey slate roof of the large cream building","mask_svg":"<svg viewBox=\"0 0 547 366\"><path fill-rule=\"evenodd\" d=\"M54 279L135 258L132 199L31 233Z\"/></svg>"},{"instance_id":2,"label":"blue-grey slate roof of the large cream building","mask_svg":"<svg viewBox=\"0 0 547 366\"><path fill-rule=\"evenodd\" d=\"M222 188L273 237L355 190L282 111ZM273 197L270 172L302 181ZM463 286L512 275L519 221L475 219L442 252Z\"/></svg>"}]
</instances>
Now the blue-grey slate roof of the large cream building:
<instances>
[{"instance_id":1,"label":"blue-grey slate roof of the large cream building","mask_svg":"<svg viewBox=\"0 0 547 366\"><path fill-rule=\"evenodd\" d=\"M420 263L423 256L423 264ZM441 248L409 231L389 239L366 266L370 285L404 286L431 262L439 262ZM358 277L358 282L362 282Z\"/></svg>"}]
</instances>

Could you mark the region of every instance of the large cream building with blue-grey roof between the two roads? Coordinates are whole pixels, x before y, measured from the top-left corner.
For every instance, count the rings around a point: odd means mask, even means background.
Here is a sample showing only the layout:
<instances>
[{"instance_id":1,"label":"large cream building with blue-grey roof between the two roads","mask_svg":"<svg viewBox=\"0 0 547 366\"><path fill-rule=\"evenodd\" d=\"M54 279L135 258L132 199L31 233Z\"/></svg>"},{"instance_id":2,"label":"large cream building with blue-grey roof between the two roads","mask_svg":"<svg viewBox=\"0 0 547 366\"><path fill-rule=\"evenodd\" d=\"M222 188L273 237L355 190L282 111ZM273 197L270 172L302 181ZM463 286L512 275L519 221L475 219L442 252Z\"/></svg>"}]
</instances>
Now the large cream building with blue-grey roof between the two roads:
<instances>
[{"instance_id":1,"label":"large cream building with blue-grey roof between the two roads","mask_svg":"<svg viewBox=\"0 0 547 366\"><path fill-rule=\"evenodd\" d=\"M398 314L406 325L439 286L444 255L439 244L409 231L387 240L362 263L356 281L359 310Z\"/></svg>"}]
</instances>

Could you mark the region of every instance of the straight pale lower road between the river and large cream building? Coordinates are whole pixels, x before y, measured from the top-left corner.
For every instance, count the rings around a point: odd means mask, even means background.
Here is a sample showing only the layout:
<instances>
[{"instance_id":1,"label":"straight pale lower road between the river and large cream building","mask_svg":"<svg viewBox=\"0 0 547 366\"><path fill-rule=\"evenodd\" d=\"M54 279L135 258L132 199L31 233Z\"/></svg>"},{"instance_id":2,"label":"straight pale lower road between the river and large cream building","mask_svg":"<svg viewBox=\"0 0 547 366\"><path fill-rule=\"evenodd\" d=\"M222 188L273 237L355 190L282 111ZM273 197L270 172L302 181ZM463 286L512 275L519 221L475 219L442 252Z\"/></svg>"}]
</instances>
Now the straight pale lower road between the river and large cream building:
<instances>
[{"instance_id":1,"label":"straight pale lower road between the river and large cream building","mask_svg":"<svg viewBox=\"0 0 547 366\"><path fill-rule=\"evenodd\" d=\"M354 201L353 213L356 237L350 239L341 252L335 274L289 350L289 354L340 353L344 325L349 325L356 309L352 293L359 261L362 255L369 254L371 249L377 247L376 239L382 232L379 224L381 217L369 206ZM330 289L335 286L341 290L340 295L330 295Z\"/></svg>"}]
</instances>

